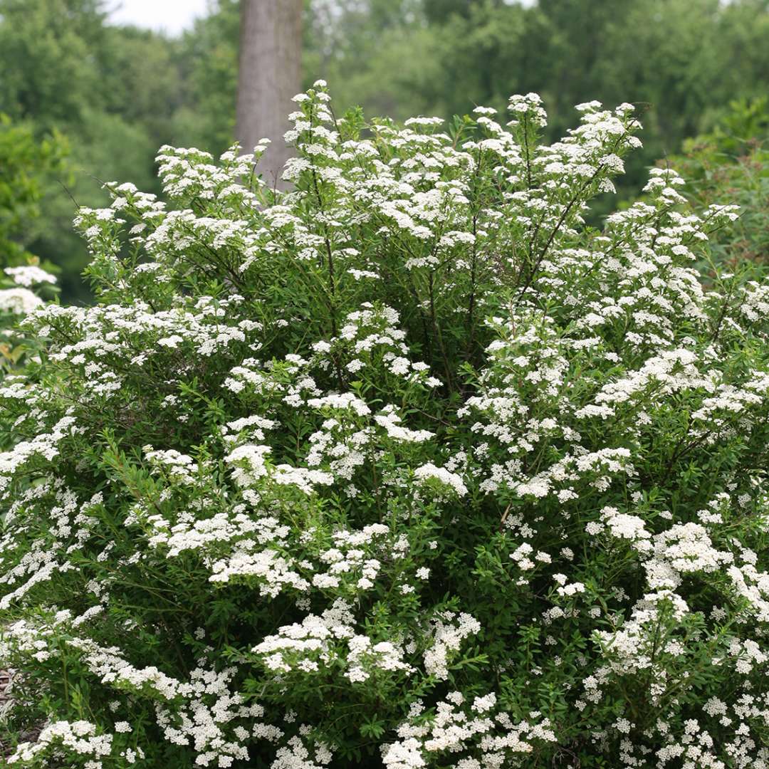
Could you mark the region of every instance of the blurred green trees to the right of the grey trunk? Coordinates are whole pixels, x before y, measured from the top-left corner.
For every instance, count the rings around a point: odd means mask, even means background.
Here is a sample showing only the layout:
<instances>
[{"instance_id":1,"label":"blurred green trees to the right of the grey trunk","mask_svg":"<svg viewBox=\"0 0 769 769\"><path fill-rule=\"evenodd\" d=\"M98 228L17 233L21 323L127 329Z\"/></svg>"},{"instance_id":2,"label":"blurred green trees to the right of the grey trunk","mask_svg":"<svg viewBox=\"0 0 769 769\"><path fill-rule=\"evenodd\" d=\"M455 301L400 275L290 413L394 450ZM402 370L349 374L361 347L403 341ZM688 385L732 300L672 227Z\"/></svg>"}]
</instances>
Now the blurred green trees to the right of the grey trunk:
<instances>
[{"instance_id":1,"label":"blurred green trees to the right of the grey trunk","mask_svg":"<svg viewBox=\"0 0 769 769\"><path fill-rule=\"evenodd\" d=\"M621 180L631 197L644 169L729 99L769 88L766 0L394 3L397 24L375 23L371 2L314 5L335 8L335 21L311 27L310 77L339 83L345 102L368 111L448 118L472 108L468 94L501 108L508 94L533 91L551 105L553 139L575 103L638 105L646 141ZM374 31L375 42L365 33Z\"/></svg>"}]
</instances>

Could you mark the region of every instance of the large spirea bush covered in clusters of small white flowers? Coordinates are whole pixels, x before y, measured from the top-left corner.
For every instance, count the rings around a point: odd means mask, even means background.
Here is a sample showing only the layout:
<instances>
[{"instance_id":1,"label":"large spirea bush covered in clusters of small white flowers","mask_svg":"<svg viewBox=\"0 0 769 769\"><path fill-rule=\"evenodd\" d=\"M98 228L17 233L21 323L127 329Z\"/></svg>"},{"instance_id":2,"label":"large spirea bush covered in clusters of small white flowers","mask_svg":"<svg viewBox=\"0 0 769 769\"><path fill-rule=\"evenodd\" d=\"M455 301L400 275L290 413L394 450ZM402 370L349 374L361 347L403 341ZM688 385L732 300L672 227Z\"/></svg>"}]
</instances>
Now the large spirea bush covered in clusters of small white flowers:
<instances>
[{"instance_id":1,"label":"large spirea bush covered in clusters of small white flowers","mask_svg":"<svg viewBox=\"0 0 769 769\"><path fill-rule=\"evenodd\" d=\"M586 227L630 105L295 102L290 191L164 147L78 215L98 303L25 321L7 764L767 767L769 285L691 266L733 207L654 169Z\"/></svg>"}]
</instances>

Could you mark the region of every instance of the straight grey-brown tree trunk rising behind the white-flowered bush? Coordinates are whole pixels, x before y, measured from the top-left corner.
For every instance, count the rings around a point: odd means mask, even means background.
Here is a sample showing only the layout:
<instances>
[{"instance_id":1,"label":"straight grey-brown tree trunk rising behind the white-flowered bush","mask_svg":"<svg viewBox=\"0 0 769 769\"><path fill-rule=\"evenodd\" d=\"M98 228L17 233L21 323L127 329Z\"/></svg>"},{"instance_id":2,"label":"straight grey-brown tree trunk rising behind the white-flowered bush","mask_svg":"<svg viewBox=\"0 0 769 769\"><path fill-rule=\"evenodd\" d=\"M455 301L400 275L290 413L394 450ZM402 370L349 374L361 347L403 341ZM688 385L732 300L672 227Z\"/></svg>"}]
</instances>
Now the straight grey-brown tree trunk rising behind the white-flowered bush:
<instances>
[{"instance_id":1,"label":"straight grey-brown tree trunk rising behind the white-flowered bush","mask_svg":"<svg viewBox=\"0 0 769 769\"><path fill-rule=\"evenodd\" d=\"M241 0L235 135L246 151L265 136L271 139L259 170L278 186L289 155L285 116L301 90L301 11L301 0Z\"/></svg>"}]
</instances>

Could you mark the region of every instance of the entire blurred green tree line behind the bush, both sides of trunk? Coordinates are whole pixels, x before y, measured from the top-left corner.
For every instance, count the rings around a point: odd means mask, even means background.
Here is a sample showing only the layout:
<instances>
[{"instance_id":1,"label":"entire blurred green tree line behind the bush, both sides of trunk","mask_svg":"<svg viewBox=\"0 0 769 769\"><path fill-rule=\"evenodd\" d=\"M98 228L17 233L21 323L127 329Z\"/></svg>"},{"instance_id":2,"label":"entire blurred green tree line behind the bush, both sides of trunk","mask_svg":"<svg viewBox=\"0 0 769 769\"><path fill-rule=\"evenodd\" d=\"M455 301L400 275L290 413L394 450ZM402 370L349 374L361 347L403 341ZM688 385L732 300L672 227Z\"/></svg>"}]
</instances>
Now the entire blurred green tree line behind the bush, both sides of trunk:
<instances>
[{"instance_id":1,"label":"entire blurred green tree line behind the bush, both sides of trunk","mask_svg":"<svg viewBox=\"0 0 769 769\"><path fill-rule=\"evenodd\" d=\"M48 182L45 226L23 238L61 265L65 301L88 301L73 198L101 205L101 180L155 191L160 145L220 152L235 135L238 0L211 0L179 38L109 25L111 5L0 0L0 112L38 141L59 131L71 148L72 184ZM371 115L451 118L536 91L550 139L571 125L578 102L634 102L644 149L628 164L624 198L657 160L690 157L687 138L727 130L730 102L766 115L755 100L769 92L767 40L769 0L305 0L301 58L305 85L325 78L338 108ZM756 118L744 128L755 135L743 138L761 143L760 126ZM765 153L746 154L749 146L719 156L765 168ZM765 195L763 184L746 197Z\"/></svg>"}]
</instances>

